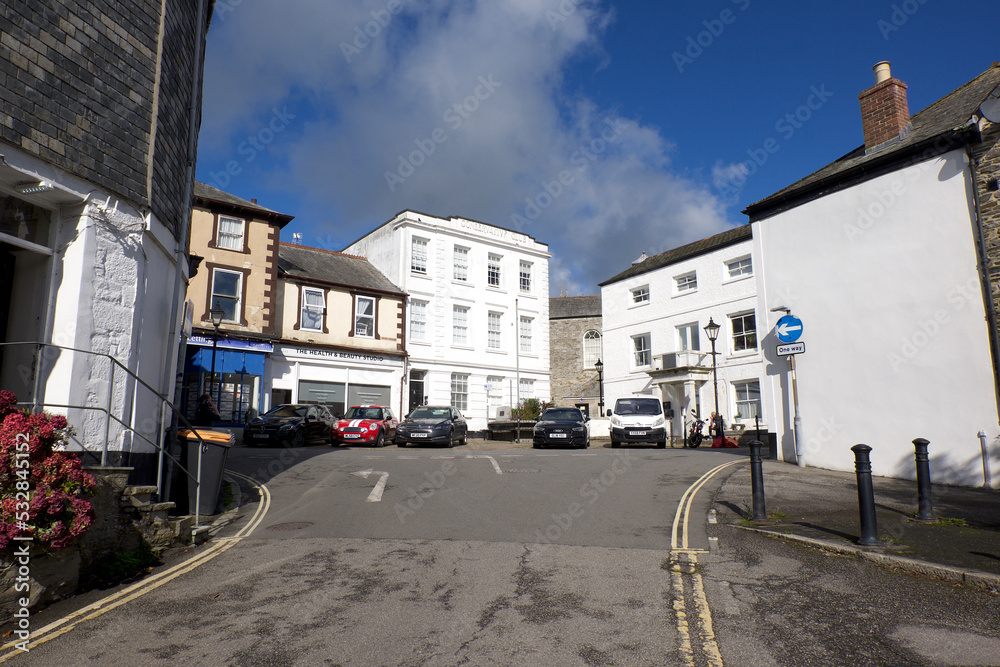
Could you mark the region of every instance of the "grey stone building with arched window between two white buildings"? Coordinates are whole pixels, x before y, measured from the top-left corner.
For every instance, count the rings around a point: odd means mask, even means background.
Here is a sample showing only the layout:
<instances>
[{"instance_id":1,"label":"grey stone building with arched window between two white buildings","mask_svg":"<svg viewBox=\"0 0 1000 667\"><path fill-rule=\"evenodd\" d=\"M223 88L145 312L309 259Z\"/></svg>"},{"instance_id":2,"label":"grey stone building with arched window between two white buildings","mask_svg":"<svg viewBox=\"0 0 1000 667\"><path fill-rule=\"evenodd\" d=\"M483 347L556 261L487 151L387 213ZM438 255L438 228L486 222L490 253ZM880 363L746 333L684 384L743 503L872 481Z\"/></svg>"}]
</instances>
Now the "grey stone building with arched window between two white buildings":
<instances>
[{"instance_id":1,"label":"grey stone building with arched window between two white buildings","mask_svg":"<svg viewBox=\"0 0 1000 667\"><path fill-rule=\"evenodd\" d=\"M549 369L557 407L601 413L595 364L604 358L602 331L600 294L549 298Z\"/></svg>"}]
</instances>

